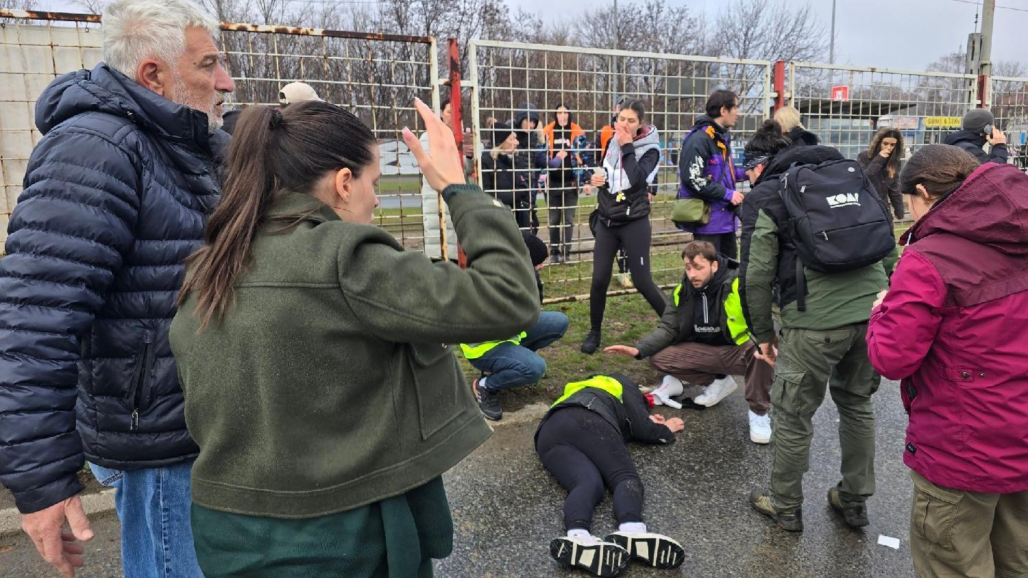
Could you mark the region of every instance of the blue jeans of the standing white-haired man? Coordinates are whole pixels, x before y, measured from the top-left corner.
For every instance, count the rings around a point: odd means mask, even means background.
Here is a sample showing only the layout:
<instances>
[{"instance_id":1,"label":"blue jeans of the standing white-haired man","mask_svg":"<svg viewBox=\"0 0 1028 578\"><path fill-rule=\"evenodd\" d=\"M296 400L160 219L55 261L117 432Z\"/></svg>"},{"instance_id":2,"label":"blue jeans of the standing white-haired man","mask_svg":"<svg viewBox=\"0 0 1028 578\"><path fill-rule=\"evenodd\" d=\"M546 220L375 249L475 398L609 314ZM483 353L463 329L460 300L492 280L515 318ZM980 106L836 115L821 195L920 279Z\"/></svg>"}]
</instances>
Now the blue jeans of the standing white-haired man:
<instances>
[{"instance_id":1,"label":"blue jeans of the standing white-haired man","mask_svg":"<svg viewBox=\"0 0 1028 578\"><path fill-rule=\"evenodd\" d=\"M114 488L125 578L204 577L189 526L191 467L191 461L125 470L89 464L101 484Z\"/></svg>"}]
</instances>

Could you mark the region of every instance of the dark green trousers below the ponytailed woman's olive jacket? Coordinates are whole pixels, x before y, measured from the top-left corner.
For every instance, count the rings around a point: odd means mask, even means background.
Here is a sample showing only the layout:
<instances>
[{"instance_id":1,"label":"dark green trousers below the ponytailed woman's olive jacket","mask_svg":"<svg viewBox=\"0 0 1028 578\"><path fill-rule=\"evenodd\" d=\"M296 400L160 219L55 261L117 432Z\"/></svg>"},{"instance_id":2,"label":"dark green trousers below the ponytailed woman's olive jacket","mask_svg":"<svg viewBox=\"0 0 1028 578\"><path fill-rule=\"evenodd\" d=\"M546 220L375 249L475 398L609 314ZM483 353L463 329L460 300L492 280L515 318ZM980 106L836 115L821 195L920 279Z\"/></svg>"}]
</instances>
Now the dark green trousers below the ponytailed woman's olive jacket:
<instances>
[{"instance_id":1,"label":"dark green trousers below the ponytailed woman's olive jacket","mask_svg":"<svg viewBox=\"0 0 1028 578\"><path fill-rule=\"evenodd\" d=\"M318 517L242 515L193 504L191 522L207 578L431 578L432 558L453 547L441 477Z\"/></svg>"}]
</instances>

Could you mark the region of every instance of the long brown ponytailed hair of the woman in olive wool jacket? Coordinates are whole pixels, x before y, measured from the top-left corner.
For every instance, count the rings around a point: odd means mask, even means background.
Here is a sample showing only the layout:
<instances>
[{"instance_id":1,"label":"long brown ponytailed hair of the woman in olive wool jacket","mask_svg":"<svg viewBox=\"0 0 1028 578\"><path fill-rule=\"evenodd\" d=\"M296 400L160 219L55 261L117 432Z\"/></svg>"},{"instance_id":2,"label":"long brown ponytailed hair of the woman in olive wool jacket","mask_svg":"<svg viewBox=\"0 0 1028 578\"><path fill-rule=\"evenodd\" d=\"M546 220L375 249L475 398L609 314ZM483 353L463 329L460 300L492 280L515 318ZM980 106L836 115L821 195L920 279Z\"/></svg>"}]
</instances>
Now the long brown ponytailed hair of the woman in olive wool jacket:
<instances>
[{"instance_id":1,"label":"long brown ponytailed hair of the woman in olive wool jacket","mask_svg":"<svg viewBox=\"0 0 1028 578\"><path fill-rule=\"evenodd\" d=\"M189 256L178 305L196 293L200 330L220 320L235 296L258 227L285 191L315 194L331 170L355 177L374 159L374 133L356 116L322 102L286 109L250 107L240 115L228 150L228 178L204 230L206 244Z\"/></svg>"}]
</instances>

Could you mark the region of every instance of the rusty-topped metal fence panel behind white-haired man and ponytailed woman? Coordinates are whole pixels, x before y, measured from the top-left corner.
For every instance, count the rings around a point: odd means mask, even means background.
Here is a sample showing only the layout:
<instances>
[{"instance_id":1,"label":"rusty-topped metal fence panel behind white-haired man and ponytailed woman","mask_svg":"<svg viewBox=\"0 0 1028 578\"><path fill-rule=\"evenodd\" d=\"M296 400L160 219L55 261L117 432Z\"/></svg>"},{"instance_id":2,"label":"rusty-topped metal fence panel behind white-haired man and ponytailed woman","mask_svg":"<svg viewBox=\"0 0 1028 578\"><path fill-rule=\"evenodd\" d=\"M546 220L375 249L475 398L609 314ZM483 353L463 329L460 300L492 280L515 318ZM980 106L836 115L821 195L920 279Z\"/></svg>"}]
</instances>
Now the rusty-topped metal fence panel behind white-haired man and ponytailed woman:
<instances>
[{"instance_id":1,"label":"rusty-topped metal fence panel behind white-haired man and ponytailed woman","mask_svg":"<svg viewBox=\"0 0 1028 578\"><path fill-rule=\"evenodd\" d=\"M25 167L40 134L35 100L57 76L103 60L100 16L0 11L0 243L6 238ZM302 80L322 99L344 106L378 139L382 178L377 223L414 249L426 244L421 178L401 130L424 127L421 99L439 110L436 41L430 37L323 29L222 25L222 50L235 81L235 107L279 104L282 85ZM436 206L436 205L434 205ZM438 210L438 209L436 209ZM438 227L435 227L437 230ZM430 242L438 240L429 239Z\"/></svg>"}]
</instances>

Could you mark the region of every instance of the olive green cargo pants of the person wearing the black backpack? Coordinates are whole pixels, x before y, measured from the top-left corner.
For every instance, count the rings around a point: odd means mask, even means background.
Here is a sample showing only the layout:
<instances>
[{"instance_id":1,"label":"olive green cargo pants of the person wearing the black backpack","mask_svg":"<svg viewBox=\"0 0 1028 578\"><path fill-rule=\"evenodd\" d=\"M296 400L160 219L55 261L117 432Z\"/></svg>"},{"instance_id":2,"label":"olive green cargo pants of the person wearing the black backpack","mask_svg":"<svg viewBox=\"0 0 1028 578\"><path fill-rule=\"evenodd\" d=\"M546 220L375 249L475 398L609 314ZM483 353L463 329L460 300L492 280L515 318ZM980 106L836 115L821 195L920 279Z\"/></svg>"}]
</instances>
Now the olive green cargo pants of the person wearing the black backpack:
<instances>
[{"instance_id":1,"label":"olive green cargo pants of the person wearing the black backpack","mask_svg":"<svg viewBox=\"0 0 1028 578\"><path fill-rule=\"evenodd\" d=\"M875 412L871 396L881 377L868 360L868 324L830 331L784 327L771 385L771 499L778 511L803 504L803 474L810 467L814 412L824 385L839 409L844 505L875 493Z\"/></svg>"}]
</instances>

